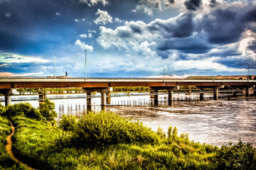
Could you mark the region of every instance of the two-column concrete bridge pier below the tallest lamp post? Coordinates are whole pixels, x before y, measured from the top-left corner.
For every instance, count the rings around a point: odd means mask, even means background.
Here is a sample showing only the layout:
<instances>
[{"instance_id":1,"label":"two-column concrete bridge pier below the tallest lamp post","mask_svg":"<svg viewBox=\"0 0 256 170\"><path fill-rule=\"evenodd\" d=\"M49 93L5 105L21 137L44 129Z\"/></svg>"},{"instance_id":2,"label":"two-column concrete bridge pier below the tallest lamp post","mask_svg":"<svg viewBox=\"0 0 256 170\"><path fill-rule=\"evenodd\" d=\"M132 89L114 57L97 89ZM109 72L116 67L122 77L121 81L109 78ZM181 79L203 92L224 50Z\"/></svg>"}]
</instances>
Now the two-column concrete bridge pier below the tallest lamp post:
<instances>
[{"instance_id":1,"label":"two-column concrete bridge pier below the tallest lamp post","mask_svg":"<svg viewBox=\"0 0 256 170\"><path fill-rule=\"evenodd\" d=\"M87 105L92 105L91 93L93 91L100 92L101 106L105 106L107 104L107 92L110 92L109 87L83 87L82 91L87 93Z\"/></svg>"}]
</instances>

